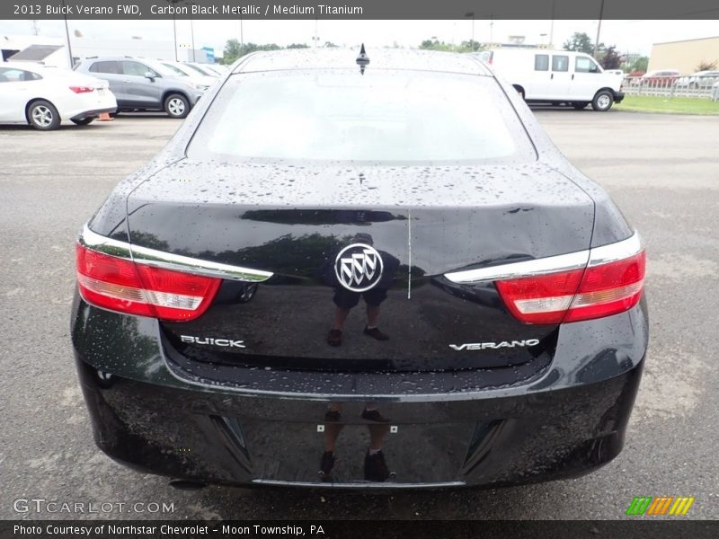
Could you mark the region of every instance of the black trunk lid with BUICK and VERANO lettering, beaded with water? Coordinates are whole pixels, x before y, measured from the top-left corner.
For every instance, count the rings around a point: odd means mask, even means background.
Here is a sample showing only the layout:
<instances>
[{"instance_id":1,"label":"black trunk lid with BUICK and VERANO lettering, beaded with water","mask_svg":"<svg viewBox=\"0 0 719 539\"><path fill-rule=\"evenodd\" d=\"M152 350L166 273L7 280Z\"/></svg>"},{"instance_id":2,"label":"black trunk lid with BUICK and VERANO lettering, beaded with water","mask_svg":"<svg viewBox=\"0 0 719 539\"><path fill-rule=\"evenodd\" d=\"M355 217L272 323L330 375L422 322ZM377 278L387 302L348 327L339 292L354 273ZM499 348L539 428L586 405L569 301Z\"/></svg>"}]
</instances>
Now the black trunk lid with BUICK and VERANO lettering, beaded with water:
<instances>
[{"instance_id":1,"label":"black trunk lid with BUICK and VERANO lettering, beaded with water","mask_svg":"<svg viewBox=\"0 0 719 539\"><path fill-rule=\"evenodd\" d=\"M128 213L134 245L273 273L260 284L226 280L199 319L161 323L166 345L186 358L432 371L551 356L556 326L519 323L492 282L460 286L443 274L588 249L594 208L583 190L543 163L310 167L185 160L138 186ZM352 243L369 244L383 262L379 284L367 293L348 294L338 284L338 254ZM366 301L378 305L377 324L389 340L363 334ZM329 346L338 305L346 310L354 303L342 346ZM476 343L483 346L465 346Z\"/></svg>"}]
</instances>

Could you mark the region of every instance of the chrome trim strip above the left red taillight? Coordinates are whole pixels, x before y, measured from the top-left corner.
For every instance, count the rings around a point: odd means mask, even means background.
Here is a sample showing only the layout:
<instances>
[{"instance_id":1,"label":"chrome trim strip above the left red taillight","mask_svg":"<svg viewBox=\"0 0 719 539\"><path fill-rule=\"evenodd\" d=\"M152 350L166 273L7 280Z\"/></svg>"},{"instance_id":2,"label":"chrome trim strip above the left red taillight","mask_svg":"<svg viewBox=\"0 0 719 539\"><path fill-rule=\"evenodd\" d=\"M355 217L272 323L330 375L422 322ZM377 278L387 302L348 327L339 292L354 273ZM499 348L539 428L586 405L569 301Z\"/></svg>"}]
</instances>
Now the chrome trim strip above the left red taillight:
<instances>
[{"instance_id":1,"label":"chrome trim strip above the left red taillight","mask_svg":"<svg viewBox=\"0 0 719 539\"><path fill-rule=\"evenodd\" d=\"M84 225L83 231L77 238L77 242L93 251L135 261L138 264L162 268L164 270L184 271L195 275L255 283L265 281L272 277L271 271L252 270L219 262L202 261L189 256L157 251L139 245L120 242L93 232L87 225Z\"/></svg>"}]
</instances>

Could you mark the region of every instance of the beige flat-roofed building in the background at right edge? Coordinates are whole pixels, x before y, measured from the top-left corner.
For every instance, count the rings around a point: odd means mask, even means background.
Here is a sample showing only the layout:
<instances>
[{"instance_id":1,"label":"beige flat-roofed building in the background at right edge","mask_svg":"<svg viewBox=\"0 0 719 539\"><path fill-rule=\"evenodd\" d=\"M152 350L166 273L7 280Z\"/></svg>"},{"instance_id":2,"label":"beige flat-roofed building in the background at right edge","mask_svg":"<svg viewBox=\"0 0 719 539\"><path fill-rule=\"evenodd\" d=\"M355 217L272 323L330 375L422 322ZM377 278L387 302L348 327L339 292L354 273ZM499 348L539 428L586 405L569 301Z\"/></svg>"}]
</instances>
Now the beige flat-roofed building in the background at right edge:
<instances>
[{"instance_id":1,"label":"beige flat-roofed building in the background at right edge","mask_svg":"<svg viewBox=\"0 0 719 539\"><path fill-rule=\"evenodd\" d=\"M719 36L654 43L648 70L678 69L682 75L687 75L697 71L702 62L716 62L719 68Z\"/></svg>"}]
</instances>

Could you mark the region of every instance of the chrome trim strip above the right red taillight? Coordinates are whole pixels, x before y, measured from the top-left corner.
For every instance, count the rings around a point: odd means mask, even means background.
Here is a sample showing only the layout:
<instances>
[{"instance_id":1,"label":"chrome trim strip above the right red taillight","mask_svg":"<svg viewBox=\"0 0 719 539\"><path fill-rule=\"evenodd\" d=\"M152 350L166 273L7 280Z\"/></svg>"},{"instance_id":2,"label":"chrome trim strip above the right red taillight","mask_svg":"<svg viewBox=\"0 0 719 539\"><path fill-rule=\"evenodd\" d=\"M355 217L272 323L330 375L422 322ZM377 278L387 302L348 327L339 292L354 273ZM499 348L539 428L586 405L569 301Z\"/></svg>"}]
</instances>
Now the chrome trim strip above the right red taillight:
<instances>
[{"instance_id":1,"label":"chrome trim strip above the right red taillight","mask_svg":"<svg viewBox=\"0 0 719 539\"><path fill-rule=\"evenodd\" d=\"M609 243L586 251L569 252L533 261L512 262L477 270L452 271L445 273L448 280L457 284L468 284L503 278L522 278L557 271L581 270L588 265L597 266L618 261L642 251L642 241L635 232L631 237L617 243Z\"/></svg>"}]
</instances>

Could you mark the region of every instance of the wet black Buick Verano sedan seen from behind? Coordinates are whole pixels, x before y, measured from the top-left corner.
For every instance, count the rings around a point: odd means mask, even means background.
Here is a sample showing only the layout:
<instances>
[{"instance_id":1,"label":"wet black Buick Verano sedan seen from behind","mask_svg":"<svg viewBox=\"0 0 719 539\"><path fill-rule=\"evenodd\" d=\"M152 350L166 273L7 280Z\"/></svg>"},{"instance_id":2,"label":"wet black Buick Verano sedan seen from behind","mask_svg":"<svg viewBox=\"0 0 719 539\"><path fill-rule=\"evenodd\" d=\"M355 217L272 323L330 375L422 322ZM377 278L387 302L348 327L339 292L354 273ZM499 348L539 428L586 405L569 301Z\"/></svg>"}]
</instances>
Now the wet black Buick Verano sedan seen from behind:
<instances>
[{"instance_id":1,"label":"wet black Buick Verano sedan seen from behind","mask_svg":"<svg viewBox=\"0 0 719 539\"><path fill-rule=\"evenodd\" d=\"M240 59L76 263L95 441L176 486L510 485L625 443L642 243L468 55Z\"/></svg>"}]
</instances>

